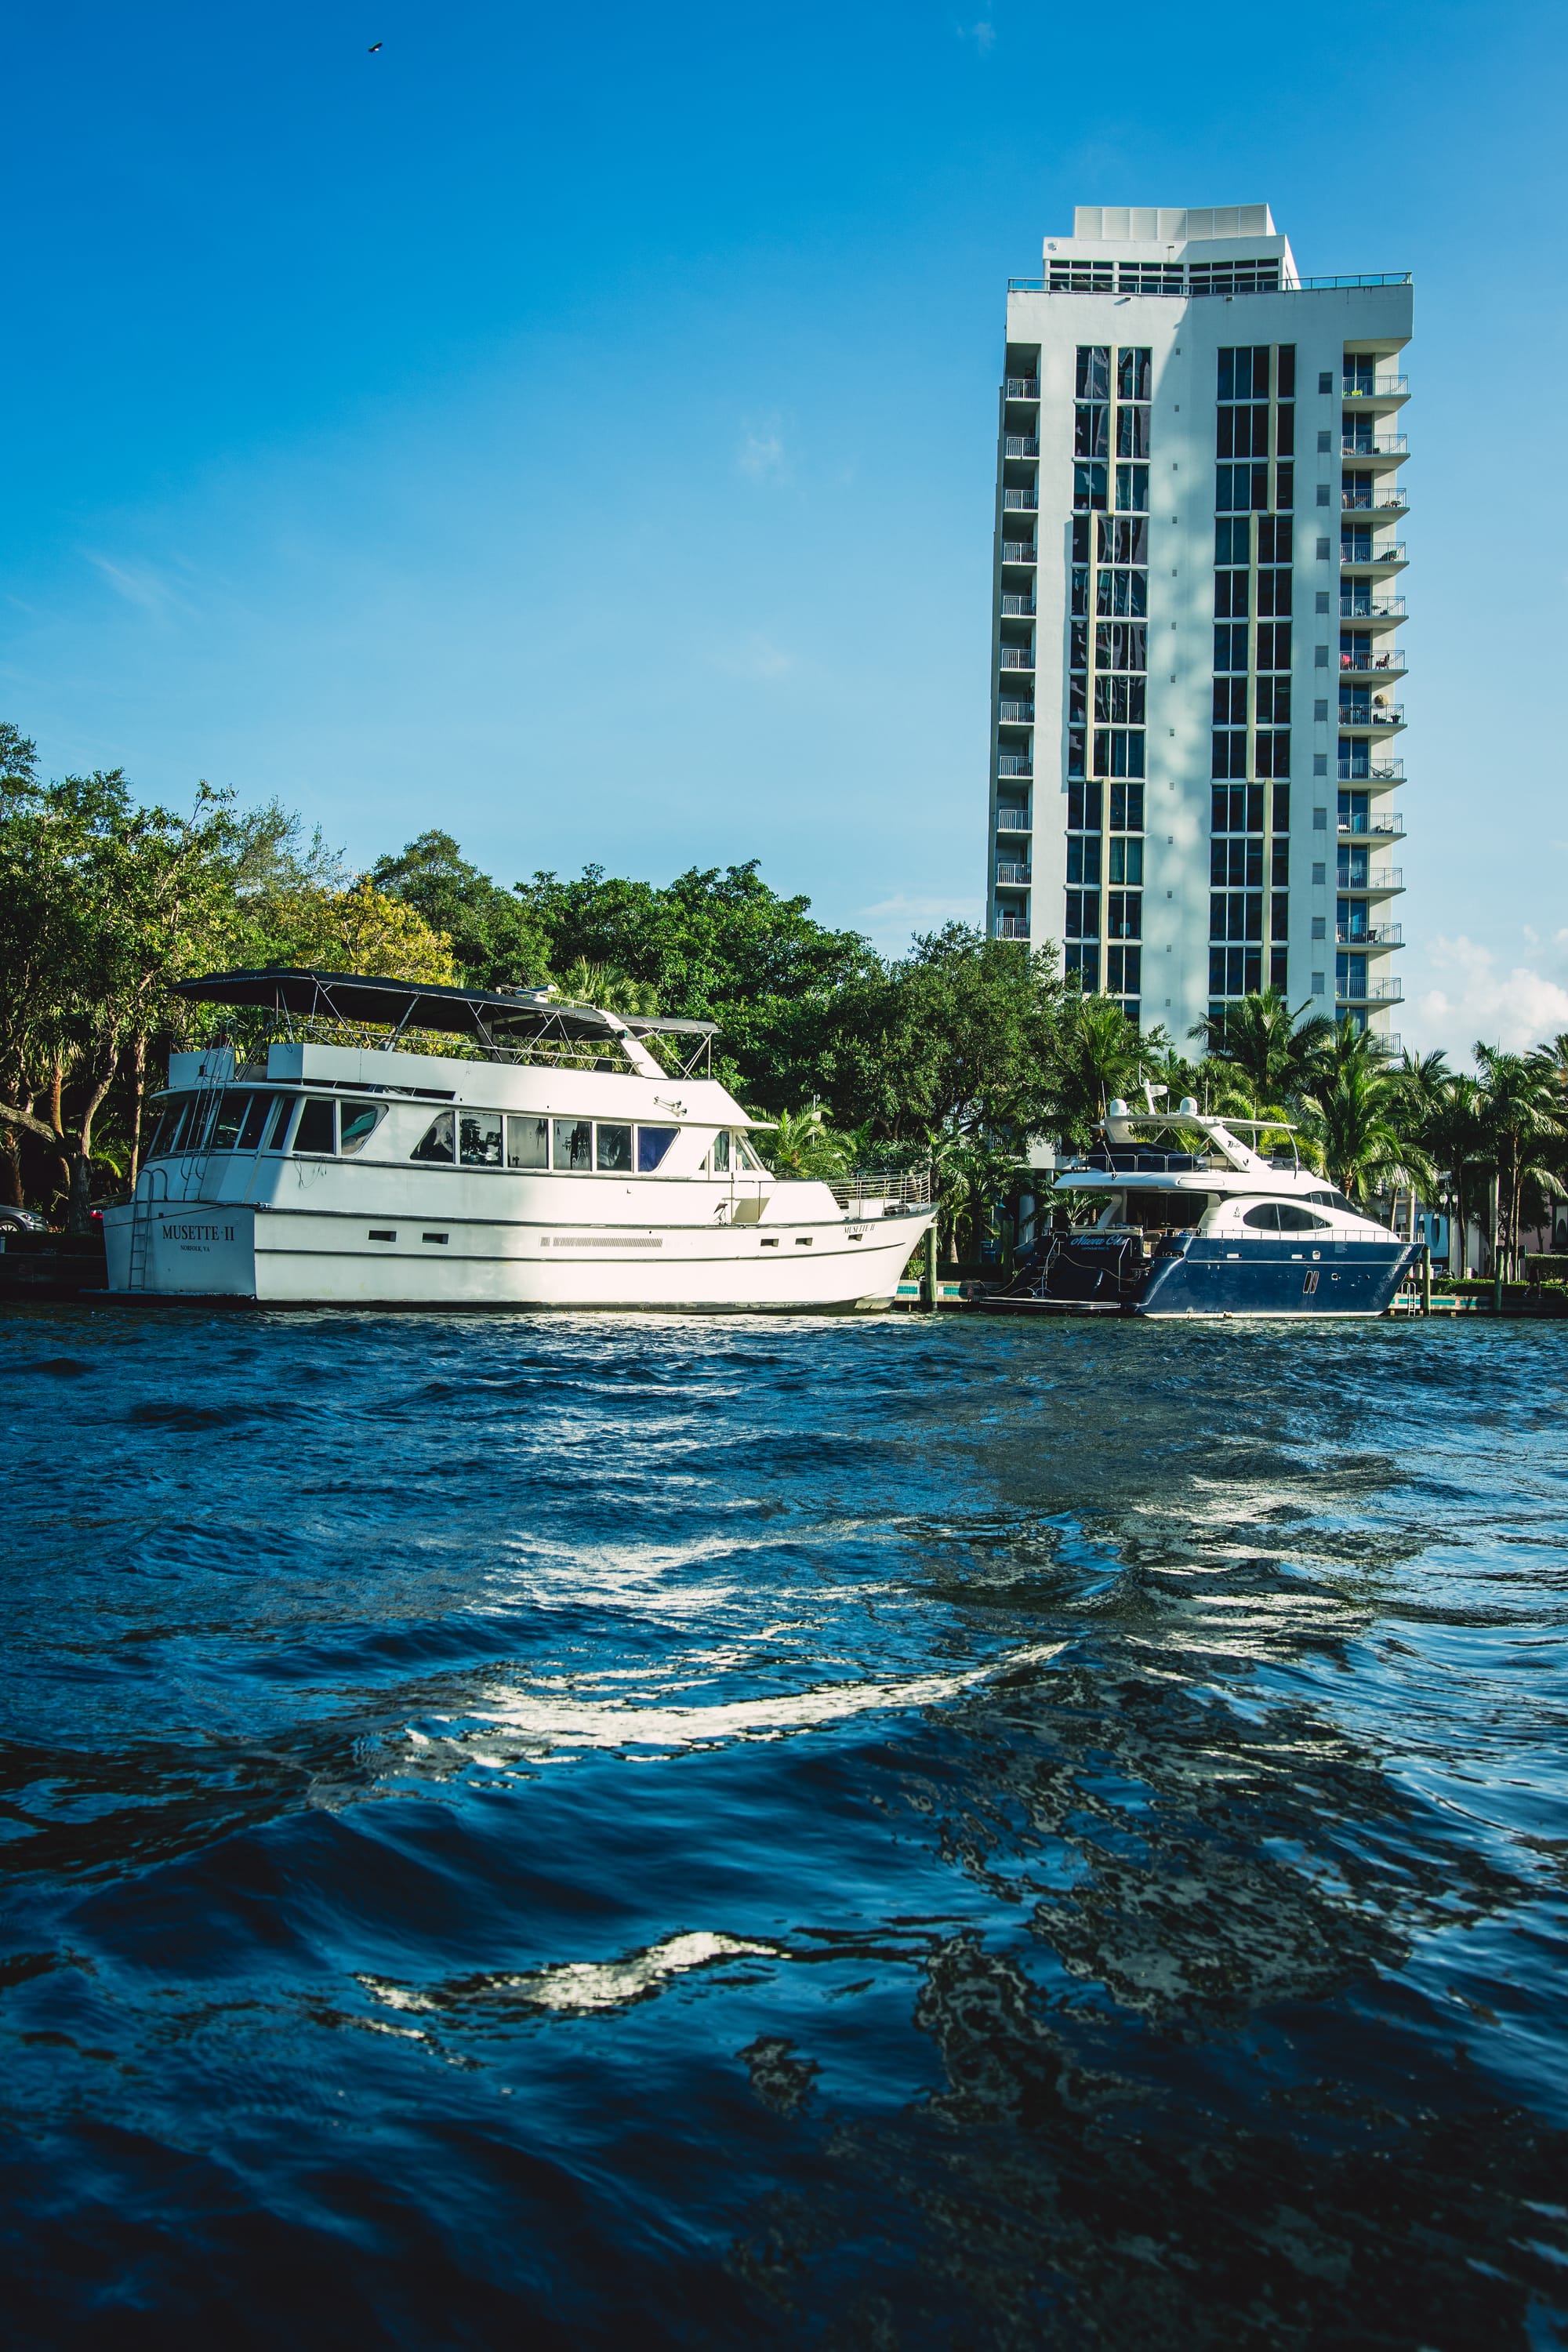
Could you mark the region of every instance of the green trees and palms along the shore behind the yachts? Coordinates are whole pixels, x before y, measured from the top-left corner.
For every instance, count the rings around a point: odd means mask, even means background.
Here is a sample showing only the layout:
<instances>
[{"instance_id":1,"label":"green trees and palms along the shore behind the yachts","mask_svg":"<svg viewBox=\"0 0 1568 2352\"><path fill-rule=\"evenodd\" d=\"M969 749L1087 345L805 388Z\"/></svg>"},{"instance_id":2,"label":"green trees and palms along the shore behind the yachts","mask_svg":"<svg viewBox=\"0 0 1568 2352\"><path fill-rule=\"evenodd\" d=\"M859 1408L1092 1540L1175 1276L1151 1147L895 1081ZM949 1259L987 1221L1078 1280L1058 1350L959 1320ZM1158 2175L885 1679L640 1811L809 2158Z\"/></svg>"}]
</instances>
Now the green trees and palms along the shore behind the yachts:
<instances>
[{"instance_id":1,"label":"green trees and palms along the shore behind the yachts","mask_svg":"<svg viewBox=\"0 0 1568 2352\"><path fill-rule=\"evenodd\" d=\"M1528 1054L1479 1042L1467 1075L1262 993L1175 1040L1065 985L1053 948L950 922L882 957L755 858L663 887L585 866L508 889L433 828L355 873L280 802L202 783L179 814L141 804L122 769L45 781L0 722L0 1200L87 1232L94 1200L136 1181L162 1058L223 1018L169 985L261 964L550 983L717 1021L715 1070L778 1122L759 1138L773 1169L931 1164L947 1261L1006 1254L1030 1141L1086 1145L1145 1080L1288 1122L1354 1200L1474 1223L1509 1277L1568 1200L1568 1035Z\"/></svg>"}]
</instances>

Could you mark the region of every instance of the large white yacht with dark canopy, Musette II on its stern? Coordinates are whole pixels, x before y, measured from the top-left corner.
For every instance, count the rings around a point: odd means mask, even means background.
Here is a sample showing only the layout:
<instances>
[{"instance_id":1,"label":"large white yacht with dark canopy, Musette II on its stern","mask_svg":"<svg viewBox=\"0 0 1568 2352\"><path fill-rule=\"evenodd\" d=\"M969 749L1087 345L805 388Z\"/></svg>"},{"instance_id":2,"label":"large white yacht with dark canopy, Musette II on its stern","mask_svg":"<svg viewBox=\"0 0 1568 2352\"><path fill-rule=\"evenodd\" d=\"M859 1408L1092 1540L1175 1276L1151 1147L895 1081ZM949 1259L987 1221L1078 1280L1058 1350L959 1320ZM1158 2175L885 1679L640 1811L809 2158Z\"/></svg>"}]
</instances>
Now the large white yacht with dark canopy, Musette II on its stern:
<instances>
[{"instance_id":1,"label":"large white yacht with dark canopy, Musette II on its stern","mask_svg":"<svg viewBox=\"0 0 1568 2352\"><path fill-rule=\"evenodd\" d=\"M771 1176L710 1021L324 971L179 995L256 1044L169 1058L136 1192L103 1211L113 1291L886 1308L936 1216L922 1178Z\"/></svg>"}]
</instances>

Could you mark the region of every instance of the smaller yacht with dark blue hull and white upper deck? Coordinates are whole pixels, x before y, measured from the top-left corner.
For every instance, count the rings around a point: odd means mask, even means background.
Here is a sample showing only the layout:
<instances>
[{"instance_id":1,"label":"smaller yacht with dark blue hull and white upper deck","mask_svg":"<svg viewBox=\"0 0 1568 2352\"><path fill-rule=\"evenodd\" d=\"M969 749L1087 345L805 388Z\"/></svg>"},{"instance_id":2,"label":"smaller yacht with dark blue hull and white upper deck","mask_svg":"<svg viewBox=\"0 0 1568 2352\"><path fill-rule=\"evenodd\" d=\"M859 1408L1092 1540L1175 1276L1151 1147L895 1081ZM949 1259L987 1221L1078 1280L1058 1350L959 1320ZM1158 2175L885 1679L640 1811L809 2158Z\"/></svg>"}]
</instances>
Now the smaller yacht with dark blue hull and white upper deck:
<instances>
[{"instance_id":1,"label":"smaller yacht with dark blue hull and white upper deck","mask_svg":"<svg viewBox=\"0 0 1568 2352\"><path fill-rule=\"evenodd\" d=\"M990 1305L1058 1315L1382 1315L1420 1247L1314 1169L1281 1120L1185 1096L1114 1101L1105 1141L1053 1183L1051 1230ZM1265 1160L1246 1136L1276 1136Z\"/></svg>"}]
</instances>

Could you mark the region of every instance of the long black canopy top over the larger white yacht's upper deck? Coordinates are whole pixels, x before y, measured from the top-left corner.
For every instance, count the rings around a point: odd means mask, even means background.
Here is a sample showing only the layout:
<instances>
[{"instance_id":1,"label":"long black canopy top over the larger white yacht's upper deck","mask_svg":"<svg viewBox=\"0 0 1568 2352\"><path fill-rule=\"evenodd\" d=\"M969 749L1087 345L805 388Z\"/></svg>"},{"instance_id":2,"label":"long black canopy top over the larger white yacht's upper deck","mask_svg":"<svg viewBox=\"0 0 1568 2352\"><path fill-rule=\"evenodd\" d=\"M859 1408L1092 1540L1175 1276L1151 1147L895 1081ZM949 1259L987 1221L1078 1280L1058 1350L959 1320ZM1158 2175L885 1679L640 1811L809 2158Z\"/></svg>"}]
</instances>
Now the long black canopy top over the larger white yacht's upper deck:
<instances>
[{"instance_id":1,"label":"long black canopy top over the larger white yacht's upper deck","mask_svg":"<svg viewBox=\"0 0 1568 2352\"><path fill-rule=\"evenodd\" d=\"M362 971L209 971L174 981L176 997L197 1004L249 1004L301 1021L369 1021L393 1030L449 1030L482 1044L520 1037L717 1037L715 1021L663 1021L654 1014L607 1014L597 1004L559 1004L543 988L437 988L383 981Z\"/></svg>"}]
</instances>

